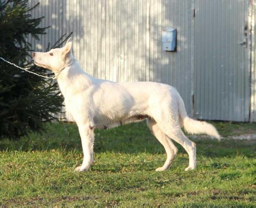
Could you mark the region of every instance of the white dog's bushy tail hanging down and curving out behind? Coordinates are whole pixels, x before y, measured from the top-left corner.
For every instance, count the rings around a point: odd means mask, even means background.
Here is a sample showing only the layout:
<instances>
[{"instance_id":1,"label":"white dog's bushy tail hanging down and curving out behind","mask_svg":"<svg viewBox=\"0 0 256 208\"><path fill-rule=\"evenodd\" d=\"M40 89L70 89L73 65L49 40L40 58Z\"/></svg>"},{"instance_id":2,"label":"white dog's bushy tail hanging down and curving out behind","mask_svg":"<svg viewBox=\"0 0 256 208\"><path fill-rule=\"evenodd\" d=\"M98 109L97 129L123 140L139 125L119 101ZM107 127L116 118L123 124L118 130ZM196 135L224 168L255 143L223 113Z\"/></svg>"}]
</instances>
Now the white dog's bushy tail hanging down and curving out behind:
<instances>
[{"instance_id":1,"label":"white dog's bushy tail hanging down and curving out behind","mask_svg":"<svg viewBox=\"0 0 256 208\"><path fill-rule=\"evenodd\" d=\"M186 132L190 134L208 134L220 140L220 135L213 125L205 121L194 120L187 116L184 102L179 94L178 94L178 108L179 108L179 116L183 122L183 126Z\"/></svg>"}]
</instances>

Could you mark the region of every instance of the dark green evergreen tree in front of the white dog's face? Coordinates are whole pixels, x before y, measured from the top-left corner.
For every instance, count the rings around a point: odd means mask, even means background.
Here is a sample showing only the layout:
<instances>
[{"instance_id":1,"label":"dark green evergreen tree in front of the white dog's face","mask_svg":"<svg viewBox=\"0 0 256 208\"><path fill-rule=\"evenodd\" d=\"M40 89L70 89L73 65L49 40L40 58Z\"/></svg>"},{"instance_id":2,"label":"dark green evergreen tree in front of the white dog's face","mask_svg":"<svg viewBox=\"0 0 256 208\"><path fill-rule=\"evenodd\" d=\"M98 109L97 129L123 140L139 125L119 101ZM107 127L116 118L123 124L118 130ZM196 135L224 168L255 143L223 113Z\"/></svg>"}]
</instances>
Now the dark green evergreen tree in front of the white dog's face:
<instances>
[{"instance_id":1,"label":"dark green evergreen tree in front of the white dog's face","mask_svg":"<svg viewBox=\"0 0 256 208\"><path fill-rule=\"evenodd\" d=\"M46 69L28 62L31 44L26 38L31 34L39 40L38 35L45 34L46 29L38 26L43 17L32 18L29 14L35 7L28 8L28 0L0 0L0 57L46 76ZM44 122L55 119L54 113L60 112L62 102L55 81L0 60L0 139L41 132Z\"/></svg>"}]
</instances>

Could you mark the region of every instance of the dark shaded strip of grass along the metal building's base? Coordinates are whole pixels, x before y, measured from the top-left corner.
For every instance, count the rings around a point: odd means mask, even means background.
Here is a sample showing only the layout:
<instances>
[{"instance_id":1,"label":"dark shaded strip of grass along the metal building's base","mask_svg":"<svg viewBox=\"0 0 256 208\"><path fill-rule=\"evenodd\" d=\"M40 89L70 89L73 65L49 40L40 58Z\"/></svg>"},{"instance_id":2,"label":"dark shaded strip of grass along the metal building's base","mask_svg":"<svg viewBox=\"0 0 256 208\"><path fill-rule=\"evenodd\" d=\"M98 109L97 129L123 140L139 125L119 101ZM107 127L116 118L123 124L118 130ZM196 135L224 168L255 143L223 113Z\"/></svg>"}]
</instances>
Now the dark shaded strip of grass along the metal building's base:
<instances>
[{"instance_id":1,"label":"dark shaded strip of grass along the metal building's base","mask_svg":"<svg viewBox=\"0 0 256 208\"><path fill-rule=\"evenodd\" d=\"M29 137L23 137L18 141L0 140L0 151L78 149L82 153L80 136L75 124L52 123L47 124L47 128L46 133L41 135L31 133ZM218 142L214 139L193 139L193 141L197 145L197 155L207 157L235 157L237 155L255 157L255 140L223 139ZM185 150L179 144L176 143L176 146L179 153L185 153ZM110 130L95 130L94 152L165 153L162 145L150 133L145 122L120 126Z\"/></svg>"}]
</instances>

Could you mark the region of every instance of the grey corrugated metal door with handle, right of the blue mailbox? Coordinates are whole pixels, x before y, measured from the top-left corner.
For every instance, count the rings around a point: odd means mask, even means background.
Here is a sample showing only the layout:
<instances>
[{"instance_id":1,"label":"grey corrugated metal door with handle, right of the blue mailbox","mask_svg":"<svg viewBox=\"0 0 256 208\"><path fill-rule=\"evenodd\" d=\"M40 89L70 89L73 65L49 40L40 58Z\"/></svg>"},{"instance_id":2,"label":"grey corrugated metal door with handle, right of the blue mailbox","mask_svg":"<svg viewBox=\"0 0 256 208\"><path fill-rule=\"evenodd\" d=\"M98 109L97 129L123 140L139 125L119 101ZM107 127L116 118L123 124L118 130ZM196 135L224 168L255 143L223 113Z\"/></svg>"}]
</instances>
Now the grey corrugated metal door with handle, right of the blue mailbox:
<instances>
[{"instance_id":1,"label":"grey corrugated metal door with handle, right of the blue mailbox","mask_svg":"<svg viewBox=\"0 0 256 208\"><path fill-rule=\"evenodd\" d=\"M196 118L249 121L250 1L195 1Z\"/></svg>"}]
</instances>

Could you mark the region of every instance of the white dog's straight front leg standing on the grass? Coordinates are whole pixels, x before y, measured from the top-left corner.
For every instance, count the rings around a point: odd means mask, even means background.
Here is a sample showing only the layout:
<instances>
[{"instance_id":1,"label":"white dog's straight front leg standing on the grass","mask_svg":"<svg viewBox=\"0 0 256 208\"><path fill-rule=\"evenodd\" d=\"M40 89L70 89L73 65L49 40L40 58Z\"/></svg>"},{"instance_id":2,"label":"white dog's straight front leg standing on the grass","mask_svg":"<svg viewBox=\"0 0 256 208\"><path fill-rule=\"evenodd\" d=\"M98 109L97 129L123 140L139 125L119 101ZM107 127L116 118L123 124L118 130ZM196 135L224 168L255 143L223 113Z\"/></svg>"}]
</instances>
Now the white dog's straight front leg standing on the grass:
<instances>
[{"instance_id":1,"label":"white dog's straight front leg standing on the grass","mask_svg":"<svg viewBox=\"0 0 256 208\"><path fill-rule=\"evenodd\" d=\"M90 168L93 162L93 142L94 142L94 127L89 123L78 124L78 129L82 141L84 159L81 166L78 166L75 171L85 171Z\"/></svg>"}]
</instances>

